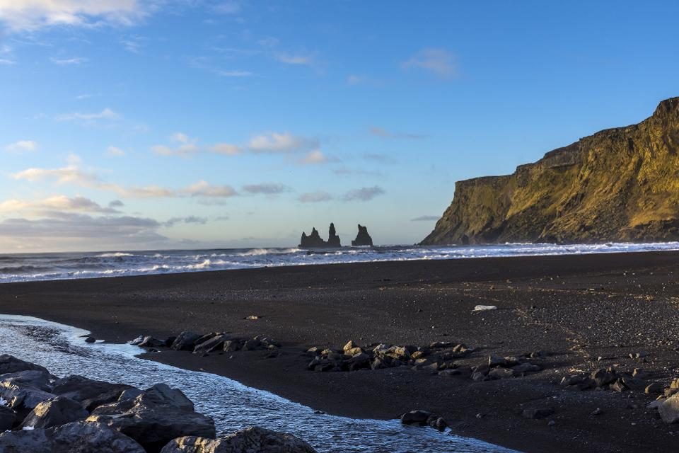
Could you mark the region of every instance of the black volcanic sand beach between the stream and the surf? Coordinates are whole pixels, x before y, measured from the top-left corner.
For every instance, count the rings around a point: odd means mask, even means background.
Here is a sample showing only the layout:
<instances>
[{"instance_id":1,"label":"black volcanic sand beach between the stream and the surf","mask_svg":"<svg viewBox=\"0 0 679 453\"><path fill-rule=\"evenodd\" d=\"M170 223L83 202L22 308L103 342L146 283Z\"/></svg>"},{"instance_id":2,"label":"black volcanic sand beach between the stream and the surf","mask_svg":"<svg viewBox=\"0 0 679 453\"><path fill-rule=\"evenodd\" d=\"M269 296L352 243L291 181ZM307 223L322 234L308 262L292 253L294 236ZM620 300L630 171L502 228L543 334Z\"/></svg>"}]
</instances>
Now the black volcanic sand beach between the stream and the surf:
<instances>
[{"instance_id":1,"label":"black volcanic sand beach between the stream and the surf","mask_svg":"<svg viewBox=\"0 0 679 453\"><path fill-rule=\"evenodd\" d=\"M651 396L572 391L557 382L569 372L616 365L642 367L668 385L679 375L678 276L673 252L298 266L4 284L0 312L78 326L111 342L182 330L269 336L283 343L282 356L145 357L223 374L327 413L388 419L426 409L444 415L456 434L526 452L675 452L679 425L646 409ZM472 312L477 304L499 309ZM251 314L260 319L244 319ZM490 354L552 355L542 372L492 382L408 367L306 370L302 350L341 348L347 340L460 341L476 348L463 365ZM646 363L628 357L642 351L649 352ZM542 407L555 414L520 415ZM603 413L590 415L597 408Z\"/></svg>"}]
</instances>

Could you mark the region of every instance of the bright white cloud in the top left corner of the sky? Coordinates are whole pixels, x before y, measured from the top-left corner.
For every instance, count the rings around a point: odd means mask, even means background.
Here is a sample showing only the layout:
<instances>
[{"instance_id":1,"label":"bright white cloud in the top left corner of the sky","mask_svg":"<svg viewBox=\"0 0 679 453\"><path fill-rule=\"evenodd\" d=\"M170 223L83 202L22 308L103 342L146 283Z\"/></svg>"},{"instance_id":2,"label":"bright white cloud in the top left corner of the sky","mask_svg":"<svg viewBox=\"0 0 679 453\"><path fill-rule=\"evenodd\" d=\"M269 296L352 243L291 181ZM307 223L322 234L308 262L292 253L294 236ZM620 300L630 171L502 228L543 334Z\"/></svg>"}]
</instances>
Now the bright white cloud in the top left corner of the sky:
<instances>
[{"instance_id":1,"label":"bright white cloud in the top left corner of the sky","mask_svg":"<svg viewBox=\"0 0 679 453\"><path fill-rule=\"evenodd\" d=\"M154 1L137 0L0 0L0 22L12 32L52 25L96 27L132 25Z\"/></svg>"}]
</instances>

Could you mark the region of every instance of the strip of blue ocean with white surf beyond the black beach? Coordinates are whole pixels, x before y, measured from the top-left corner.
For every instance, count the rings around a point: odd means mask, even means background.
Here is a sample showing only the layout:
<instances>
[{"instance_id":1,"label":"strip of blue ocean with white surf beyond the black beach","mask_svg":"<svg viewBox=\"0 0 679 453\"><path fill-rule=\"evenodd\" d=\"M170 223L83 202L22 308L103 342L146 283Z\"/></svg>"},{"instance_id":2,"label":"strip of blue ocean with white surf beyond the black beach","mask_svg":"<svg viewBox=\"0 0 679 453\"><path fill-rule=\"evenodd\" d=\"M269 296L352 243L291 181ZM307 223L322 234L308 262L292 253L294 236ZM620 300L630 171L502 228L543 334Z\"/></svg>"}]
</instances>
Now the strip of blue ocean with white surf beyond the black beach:
<instances>
[{"instance_id":1,"label":"strip of blue ocean with white surf beyond the black beach","mask_svg":"<svg viewBox=\"0 0 679 453\"><path fill-rule=\"evenodd\" d=\"M679 242L596 245L505 243L483 246L376 246L317 250L217 248L210 250L13 253L0 255L0 282L120 277L288 265L677 250L679 250Z\"/></svg>"}]
</instances>

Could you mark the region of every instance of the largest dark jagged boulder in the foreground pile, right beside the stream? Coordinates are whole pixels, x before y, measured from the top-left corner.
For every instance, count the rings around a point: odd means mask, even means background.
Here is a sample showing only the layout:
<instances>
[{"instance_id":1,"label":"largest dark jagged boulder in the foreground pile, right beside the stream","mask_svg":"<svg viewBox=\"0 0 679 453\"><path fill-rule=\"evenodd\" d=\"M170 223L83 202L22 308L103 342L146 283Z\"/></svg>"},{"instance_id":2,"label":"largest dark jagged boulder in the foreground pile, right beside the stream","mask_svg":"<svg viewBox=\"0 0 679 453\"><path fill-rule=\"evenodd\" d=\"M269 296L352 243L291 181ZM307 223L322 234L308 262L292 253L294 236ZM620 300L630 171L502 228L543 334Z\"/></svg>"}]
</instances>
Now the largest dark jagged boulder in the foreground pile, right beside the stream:
<instances>
[{"instance_id":1,"label":"largest dark jagged boulder in the foreground pile, right beside the stream","mask_svg":"<svg viewBox=\"0 0 679 453\"><path fill-rule=\"evenodd\" d=\"M196 413L189 398L165 384L156 384L132 400L99 406L87 421L119 430L149 451L158 451L176 437L215 435L212 418Z\"/></svg>"}]
</instances>

